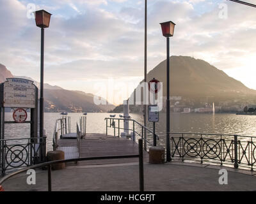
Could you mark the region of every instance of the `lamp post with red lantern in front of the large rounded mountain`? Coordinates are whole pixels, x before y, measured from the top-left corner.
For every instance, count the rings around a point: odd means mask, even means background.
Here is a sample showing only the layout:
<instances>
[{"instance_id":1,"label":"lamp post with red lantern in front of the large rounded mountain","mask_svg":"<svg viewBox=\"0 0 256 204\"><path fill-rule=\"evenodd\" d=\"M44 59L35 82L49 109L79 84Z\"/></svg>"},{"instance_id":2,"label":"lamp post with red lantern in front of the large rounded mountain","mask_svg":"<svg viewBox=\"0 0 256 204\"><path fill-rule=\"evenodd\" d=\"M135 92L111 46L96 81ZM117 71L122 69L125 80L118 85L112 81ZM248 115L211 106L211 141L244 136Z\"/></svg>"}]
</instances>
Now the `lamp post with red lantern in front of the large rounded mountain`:
<instances>
[{"instance_id":1,"label":"lamp post with red lantern in front of the large rounded mountain","mask_svg":"<svg viewBox=\"0 0 256 204\"><path fill-rule=\"evenodd\" d=\"M175 24L172 21L161 23L163 36L167 40L166 55L166 161L171 161L170 151L170 37L173 36Z\"/></svg>"}]
</instances>

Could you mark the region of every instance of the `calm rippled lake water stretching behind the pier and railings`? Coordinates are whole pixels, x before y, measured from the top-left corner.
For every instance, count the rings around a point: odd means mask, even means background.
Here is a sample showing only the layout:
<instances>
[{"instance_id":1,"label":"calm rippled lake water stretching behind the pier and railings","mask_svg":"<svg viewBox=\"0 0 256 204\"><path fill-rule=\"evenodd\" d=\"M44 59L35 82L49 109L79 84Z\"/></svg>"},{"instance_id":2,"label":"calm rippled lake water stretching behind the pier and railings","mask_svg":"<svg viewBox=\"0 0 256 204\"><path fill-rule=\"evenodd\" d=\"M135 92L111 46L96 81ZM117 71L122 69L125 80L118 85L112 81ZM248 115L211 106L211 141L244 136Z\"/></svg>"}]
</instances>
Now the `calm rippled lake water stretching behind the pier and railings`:
<instances>
[{"instance_id":1,"label":"calm rippled lake water stretching behind the pier and railings","mask_svg":"<svg viewBox=\"0 0 256 204\"><path fill-rule=\"evenodd\" d=\"M115 113L116 118L119 114ZM132 119L143 124L143 116L135 113L130 114ZM76 122L83 116L82 113L68 113L71 118L71 130L76 132ZM6 120L12 120L12 113L5 113ZM28 116L29 118L30 116ZM60 113L45 113L45 129L47 130L47 150L52 150L52 135L56 119L61 117ZM88 113L86 133L106 133L106 117L109 113ZM120 124L122 126L122 124ZM152 128L152 123L148 123ZM132 123L130 128L132 128ZM164 145L166 128L166 115L160 114L159 122L156 123L156 133L159 135L159 144ZM136 126L136 130L141 130ZM256 115L235 115L226 113L172 113L172 132L184 133L221 133L256 136ZM113 129L109 128L109 134ZM117 133L117 130L116 130ZM29 137L29 124L6 124L5 138ZM152 135L148 135L152 140Z\"/></svg>"}]
</instances>

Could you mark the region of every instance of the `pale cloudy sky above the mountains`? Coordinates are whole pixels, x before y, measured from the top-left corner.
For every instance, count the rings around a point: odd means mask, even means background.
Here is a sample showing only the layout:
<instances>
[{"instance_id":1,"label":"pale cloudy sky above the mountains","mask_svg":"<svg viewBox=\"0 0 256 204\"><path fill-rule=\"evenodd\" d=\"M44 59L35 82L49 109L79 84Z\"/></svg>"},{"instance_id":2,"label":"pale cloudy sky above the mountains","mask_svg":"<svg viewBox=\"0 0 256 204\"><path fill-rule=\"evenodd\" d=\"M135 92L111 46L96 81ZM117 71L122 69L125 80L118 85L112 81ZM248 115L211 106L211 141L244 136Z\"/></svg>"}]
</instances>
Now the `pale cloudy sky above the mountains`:
<instances>
[{"instance_id":1,"label":"pale cloudy sky above the mountains","mask_svg":"<svg viewBox=\"0 0 256 204\"><path fill-rule=\"evenodd\" d=\"M118 104L143 79L140 0L0 0L0 63L13 75L40 80L33 4L52 13L45 29L45 82ZM148 71L166 57L159 22L168 20L177 24L171 55L203 59L256 89L256 8L225 0L148 0Z\"/></svg>"}]
</instances>

